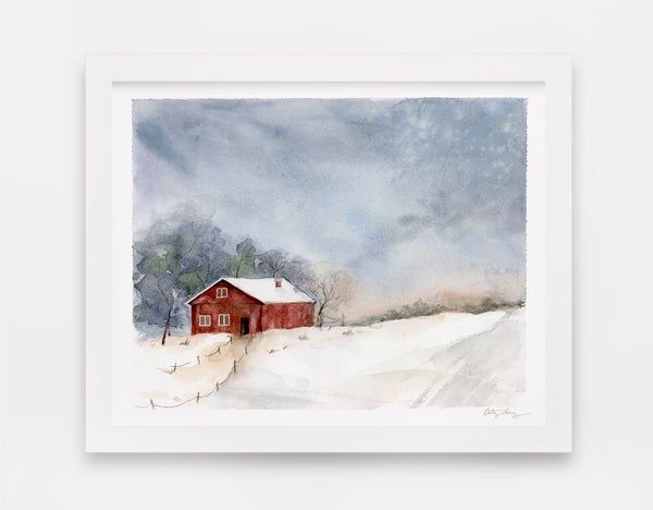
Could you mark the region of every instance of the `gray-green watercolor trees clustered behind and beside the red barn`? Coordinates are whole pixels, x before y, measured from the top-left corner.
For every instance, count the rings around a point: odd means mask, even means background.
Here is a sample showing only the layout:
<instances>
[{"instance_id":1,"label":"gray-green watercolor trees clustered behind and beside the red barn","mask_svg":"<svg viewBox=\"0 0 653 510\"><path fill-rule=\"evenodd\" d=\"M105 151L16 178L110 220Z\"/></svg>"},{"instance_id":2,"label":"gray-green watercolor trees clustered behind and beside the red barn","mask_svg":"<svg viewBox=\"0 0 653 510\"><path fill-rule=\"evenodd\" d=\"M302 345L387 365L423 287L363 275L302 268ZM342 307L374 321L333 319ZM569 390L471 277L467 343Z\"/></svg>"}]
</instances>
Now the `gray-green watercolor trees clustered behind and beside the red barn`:
<instances>
[{"instance_id":1,"label":"gray-green watercolor trees clustered behind and beside the red barn","mask_svg":"<svg viewBox=\"0 0 653 510\"><path fill-rule=\"evenodd\" d=\"M135 232L134 325L171 329L188 326L185 302L213 281L224 278L285 278L316 300L316 324L335 311L352 279L345 271L316 274L300 256L281 248L261 250L246 238L229 250L222 230L206 216L175 212Z\"/></svg>"}]
</instances>

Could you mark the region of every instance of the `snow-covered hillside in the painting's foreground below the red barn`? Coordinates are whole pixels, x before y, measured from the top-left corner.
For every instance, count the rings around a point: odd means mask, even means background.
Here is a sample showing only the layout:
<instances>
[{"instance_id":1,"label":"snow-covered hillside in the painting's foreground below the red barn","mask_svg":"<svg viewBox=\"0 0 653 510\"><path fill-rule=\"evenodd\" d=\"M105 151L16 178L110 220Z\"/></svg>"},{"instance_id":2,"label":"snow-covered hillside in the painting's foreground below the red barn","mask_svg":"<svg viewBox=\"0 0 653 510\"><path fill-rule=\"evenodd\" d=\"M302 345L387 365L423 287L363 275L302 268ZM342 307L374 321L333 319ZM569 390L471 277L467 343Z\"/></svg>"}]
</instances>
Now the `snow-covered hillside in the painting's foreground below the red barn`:
<instances>
[{"instance_id":1,"label":"snow-covered hillside in the painting's foreground below the red barn","mask_svg":"<svg viewBox=\"0 0 653 510\"><path fill-rule=\"evenodd\" d=\"M273 330L233 341L215 335L189 337L182 345L183 338L167 347L146 343L136 348L136 401L181 402L221 382L202 405L507 406L525 390L523 313L446 313L368 327Z\"/></svg>"}]
</instances>

